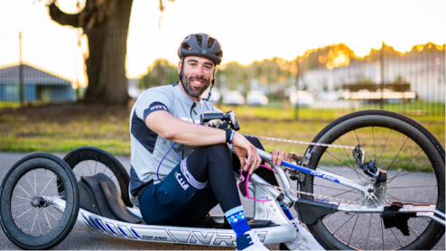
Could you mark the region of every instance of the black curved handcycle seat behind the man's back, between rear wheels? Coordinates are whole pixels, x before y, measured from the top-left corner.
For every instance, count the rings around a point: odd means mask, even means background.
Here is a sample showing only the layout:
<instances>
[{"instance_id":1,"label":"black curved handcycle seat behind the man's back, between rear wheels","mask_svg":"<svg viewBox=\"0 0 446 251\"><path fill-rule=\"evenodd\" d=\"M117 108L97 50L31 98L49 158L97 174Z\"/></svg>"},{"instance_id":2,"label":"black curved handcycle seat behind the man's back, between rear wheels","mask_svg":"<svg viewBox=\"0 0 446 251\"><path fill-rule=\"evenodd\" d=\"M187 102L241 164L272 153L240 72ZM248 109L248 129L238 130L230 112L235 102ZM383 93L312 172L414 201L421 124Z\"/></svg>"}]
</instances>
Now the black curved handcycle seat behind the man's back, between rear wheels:
<instances>
[{"instance_id":1,"label":"black curved handcycle seat behind the man's back, between rear wheels","mask_svg":"<svg viewBox=\"0 0 446 251\"><path fill-rule=\"evenodd\" d=\"M79 181L80 208L105 218L139 224L143 219L133 214L125 204L116 184L104 173L82 176Z\"/></svg>"}]
</instances>

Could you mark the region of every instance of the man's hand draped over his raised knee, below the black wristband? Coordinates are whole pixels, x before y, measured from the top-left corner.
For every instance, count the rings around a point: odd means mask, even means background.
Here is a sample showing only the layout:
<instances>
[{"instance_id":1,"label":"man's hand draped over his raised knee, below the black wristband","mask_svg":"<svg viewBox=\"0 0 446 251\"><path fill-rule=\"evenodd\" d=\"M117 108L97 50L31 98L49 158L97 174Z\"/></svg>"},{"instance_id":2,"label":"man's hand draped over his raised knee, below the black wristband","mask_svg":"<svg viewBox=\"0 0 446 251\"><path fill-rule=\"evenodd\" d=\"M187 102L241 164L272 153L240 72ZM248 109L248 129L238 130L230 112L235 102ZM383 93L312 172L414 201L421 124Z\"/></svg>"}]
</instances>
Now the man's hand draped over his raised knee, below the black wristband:
<instances>
[{"instance_id":1,"label":"man's hand draped over his raised knee, below the black wristband","mask_svg":"<svg viewBox=\"0 0 446 251\"><path fill-rule=\"evenodd\" d=\"M238 133L235 133L232 144L234 144L234 152L240 160L242 170L244 172L249 170L249 174L252 175L262 163L262 158L258 155L256 146ZM245 160L245 157L247 160Z\"/></svg>"}]
</instances>

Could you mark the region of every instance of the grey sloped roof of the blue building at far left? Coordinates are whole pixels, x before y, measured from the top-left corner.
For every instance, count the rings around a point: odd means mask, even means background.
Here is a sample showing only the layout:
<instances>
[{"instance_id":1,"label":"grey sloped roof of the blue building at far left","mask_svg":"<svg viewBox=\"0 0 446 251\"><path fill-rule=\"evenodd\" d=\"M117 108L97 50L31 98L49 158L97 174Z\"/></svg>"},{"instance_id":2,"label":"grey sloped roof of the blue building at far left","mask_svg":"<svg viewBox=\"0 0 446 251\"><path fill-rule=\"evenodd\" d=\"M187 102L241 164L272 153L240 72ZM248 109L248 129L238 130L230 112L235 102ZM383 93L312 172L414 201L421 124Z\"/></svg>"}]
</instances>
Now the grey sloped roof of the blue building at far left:
<instances>
[{"instance_id":1,"label":"grey sloped roof of the blue building at far left","mask_svg":"<svg viewBox=\"0 0 446 251\"><path fill-rule=\"evenodd\" d=\"M20 81L20 65L0 68L0 84L16 84ZM23 84L71 85L71 81L40 70L28 64L22 65Z\"/></svg>"}]
</instances>

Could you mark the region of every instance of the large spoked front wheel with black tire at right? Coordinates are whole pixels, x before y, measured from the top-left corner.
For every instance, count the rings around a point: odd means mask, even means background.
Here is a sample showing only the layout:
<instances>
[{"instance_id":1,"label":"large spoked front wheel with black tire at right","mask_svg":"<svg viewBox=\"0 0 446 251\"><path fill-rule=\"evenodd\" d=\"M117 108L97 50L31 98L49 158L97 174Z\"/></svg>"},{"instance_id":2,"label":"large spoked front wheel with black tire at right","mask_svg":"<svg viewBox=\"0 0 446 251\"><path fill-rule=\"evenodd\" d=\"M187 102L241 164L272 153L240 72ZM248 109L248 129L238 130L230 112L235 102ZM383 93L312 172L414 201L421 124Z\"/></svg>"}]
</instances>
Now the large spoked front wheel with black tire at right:
<instances>
[{"instance_id":1,"label":"large spoked front wheel with black tire at right","mask_svg":"<svg viewBox=\"0 0 446 251\"><path fill-rule=\"evenodd\" d=\"M435 137L412 119L388 111L360 111L335 120L313 142L360 144L366 161L375 160L376 167L387 172L386 185L376 187L379 206L400 200L404 204L436 205L436 209L446 211L446 154ZM352 149L311 145L306 153L311 153L311 169L369 182L353 158ZM376 206L356 190L311 175L303 185L304 191L314 194ZM304 196L316 200L314 197ZM335 212L308 226L328 250L424 250L435 246L445 230L428 218L410 218L408 227L410 236L404 236L397 228L384 228L378 213L345 212Z\"/></svg>"}]
</instances>

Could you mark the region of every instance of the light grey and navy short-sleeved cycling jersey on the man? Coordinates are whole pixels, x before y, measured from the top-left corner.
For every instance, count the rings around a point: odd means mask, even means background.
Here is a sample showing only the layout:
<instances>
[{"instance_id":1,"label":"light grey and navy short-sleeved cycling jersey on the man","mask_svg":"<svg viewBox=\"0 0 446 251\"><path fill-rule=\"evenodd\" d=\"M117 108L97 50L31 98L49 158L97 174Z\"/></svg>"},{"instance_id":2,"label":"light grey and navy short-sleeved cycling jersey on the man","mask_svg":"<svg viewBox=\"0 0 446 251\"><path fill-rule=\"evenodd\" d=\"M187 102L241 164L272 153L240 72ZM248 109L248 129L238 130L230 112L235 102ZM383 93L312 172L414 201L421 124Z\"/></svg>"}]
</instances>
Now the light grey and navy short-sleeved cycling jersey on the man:
<instances>
[{"instance_id":1,"label":"light grey and navy short-sleeved cycling jersey on the man","mask_svg":"<svg viewBox=\"0 0 446 251\"><path fill-rule=\"evenodd\" d=\"M158 183L172 169L188 156L193 145L174 144L163 139L145 125L145 118L153 111L165 110L181 120L200 123L200 114L205 112L221 112L210 102L194 101L178 86L173 85L149 88L136 100L130 113L130 196L135 198L138 191L148 182ZM169 149L172 147L172 150ZM169 153L168 153L169 152ZM167 153L167 155L166 155ZM165 158L164 158L165 156ZM164 159L163 159L164 158Z\"/></svg>"}]
</instances>

